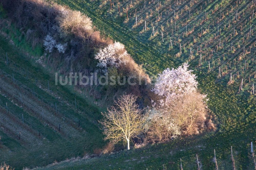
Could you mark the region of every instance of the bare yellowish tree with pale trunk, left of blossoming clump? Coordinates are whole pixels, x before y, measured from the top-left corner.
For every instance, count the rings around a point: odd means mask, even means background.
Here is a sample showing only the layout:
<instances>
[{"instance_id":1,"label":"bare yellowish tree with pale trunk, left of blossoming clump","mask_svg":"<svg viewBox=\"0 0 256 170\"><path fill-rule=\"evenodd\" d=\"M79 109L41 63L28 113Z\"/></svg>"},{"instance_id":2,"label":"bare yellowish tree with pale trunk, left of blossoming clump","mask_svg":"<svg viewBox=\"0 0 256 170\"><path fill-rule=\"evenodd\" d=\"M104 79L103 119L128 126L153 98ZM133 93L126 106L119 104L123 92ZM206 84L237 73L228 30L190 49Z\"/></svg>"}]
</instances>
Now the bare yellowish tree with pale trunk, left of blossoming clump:
<instances>
[{"instance_id":1,"label":"bare yellowish tree with pale trunk, left of blossoming clump","mask_svg":"<svg viewBox=\"0 0 256 170\"><path fill-rule=\"evenodd\" d=\"M122 95L115 102L115 107L102 113L104 118L100 122L104 126L105 140L113 143L126 140L127 150L130 149L130 139L137 137L144 129L145 118L135 103L136 99L132 94Z\"/></svg>"}]
</instances>

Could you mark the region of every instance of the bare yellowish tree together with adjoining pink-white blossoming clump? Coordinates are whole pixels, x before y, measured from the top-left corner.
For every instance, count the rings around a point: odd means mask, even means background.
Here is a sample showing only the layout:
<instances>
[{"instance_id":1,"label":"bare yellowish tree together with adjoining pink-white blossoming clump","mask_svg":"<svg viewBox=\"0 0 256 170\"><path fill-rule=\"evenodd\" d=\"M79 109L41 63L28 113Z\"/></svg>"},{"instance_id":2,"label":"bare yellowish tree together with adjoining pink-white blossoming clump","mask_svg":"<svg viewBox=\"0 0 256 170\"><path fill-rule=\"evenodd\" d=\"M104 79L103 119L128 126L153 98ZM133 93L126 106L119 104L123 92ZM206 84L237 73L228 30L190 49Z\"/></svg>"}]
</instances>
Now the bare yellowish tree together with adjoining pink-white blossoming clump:
<instances>
[{"instance_id":1,"label":"bare yellowish tree together with adjoining pink-white blossoming clump","mask_svg":"<svg viewBox=\"0 0 256 170\"><path fill-rule=\"evenodd\" d=\"M159 142L199 133L205 127L208 99L197 91L198 82L191 72L185 63L159 74L152 89L157 100L144 110L136 104L136 96L122 95L102 113L105 140L125 140L129 150L130 140L139 135L144 142ZM212 123L210 126L214 127Z\"/></svg>"}]
</instances>

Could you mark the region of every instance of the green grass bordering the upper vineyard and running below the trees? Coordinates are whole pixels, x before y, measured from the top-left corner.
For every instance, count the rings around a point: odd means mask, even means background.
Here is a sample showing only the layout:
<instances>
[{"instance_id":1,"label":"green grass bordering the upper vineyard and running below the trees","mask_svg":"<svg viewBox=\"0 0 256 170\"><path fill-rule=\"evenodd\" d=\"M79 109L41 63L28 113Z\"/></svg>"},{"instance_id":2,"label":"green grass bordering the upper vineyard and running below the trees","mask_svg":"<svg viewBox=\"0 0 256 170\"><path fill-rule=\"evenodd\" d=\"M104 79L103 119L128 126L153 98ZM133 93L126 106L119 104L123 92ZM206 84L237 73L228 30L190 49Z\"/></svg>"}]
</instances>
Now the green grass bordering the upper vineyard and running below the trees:
<instances>
[{"instance_id":1,"label":"green grass bordering the upper vineyard and running below the trees","mask_svg":"<svg viewBox=\"0 0 256 170\"><path fill-rule=\"evenodd\" d=\"M146 64L148 60L158 61L154 65L147 66L149 73L155 74L166 67L178 65L183 59L173 59L158 53L142 40L138 40L136 34L124 26L122 20L106 18L106 10L100 9L99 1L58 0L72 9L80 10L92 18L93 23L114 40L124 43L127 50L138 63ZM134 34L134 36L132 35ZM145 44L143 44L145 43ZM159 58L161 59L159 60ZM196 65L196 62L192 65ZM207 68L206 68L207 69ZM255 142L255 97L237 94L237 86L226 86L228 79L216 81L217 74L205 74L196 70L200 90L208 93L209 108L216 115L216 122L220 123L216 132L206 133L200 136L188 137L185 140L174 140L167 144L147 146L129 152L94 158L91 160L78 160L72 163L61 163L49 167L49 169L63 168L74 169L126 169L146 168L162 169L163 164L168 169L178 169L179 158L183 159L184 169L196 169L195 154L198 153L203 169L214 169L213 149L216 149L220 169L232 169L230 161L230 146L235 150L235 161L238 169L251 169L252 159L249 156L249 143ZM97 164L97 166L95 165ZM110 166L111 165L111 166Z\"/></svg>"}]
</instances>

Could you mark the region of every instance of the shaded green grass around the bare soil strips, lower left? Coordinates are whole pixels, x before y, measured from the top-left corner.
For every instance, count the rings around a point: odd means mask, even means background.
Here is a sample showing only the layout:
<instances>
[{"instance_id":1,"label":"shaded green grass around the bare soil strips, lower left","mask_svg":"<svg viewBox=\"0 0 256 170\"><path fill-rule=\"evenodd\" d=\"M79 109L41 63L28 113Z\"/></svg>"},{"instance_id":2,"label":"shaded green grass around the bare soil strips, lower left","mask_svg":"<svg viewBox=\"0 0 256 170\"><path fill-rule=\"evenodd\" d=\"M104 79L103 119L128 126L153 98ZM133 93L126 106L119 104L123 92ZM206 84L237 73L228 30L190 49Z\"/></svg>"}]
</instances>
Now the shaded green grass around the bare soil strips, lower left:
<instances>
[{"instance_id":1,"label":"shaded green grass around the bare soil strips, lower left","mask_svg":"<svg viewBox=\"0 0 256 170\"><path fill-rule=\"evenodd\" d=\"M39 66L35 66L33 60L27 59L27 57L20 53L13 45L11 45L4 37L0 36L0 52L7 52L8 57L12 60L15 60L16 65L20 65L24 68L29 68L29 71L36 75L41 80L49 80L51 86L54 86L54 75L49 75L44 69ZM21 50L21 49L20 49ZM2 56L2 54L1 54ZM34 64L31 64L34 63ZM67 106L64 101L57 99L55 96L50 93L47 94L46 91L38 88L37 83L35 83L34 77L26 77L24 73L14 67L14 65L6 66L5 59L1 57L0 61L1 70L7 72L7 74L14 74L15 79L25 84L28 88L35 90L35 92L44 97L44 99L55 103L57 102L58 108L65 110L71 116L74 116L81 120L82 131L81 136L77 139L63 136L58 133L56 130L49 127L40 117L34 115L29 110L25 108L20 108L14 105L10 101L18 100L13 97L13 95L8 95L4 97L3 95L7 94L3 91L0 96L0 105L5 107L7 102L8 108L15 113L24 115L24 119L28 120L31 124L36 127L36 130L40 129L41 136L45 139L39 139L42 141L42 145L37 145L32 143L30 145L20 143L19 140L15 137L10 137L3 133L3 129L0 129L0 136L3 142L3 148L0 149L0 162L6 162L15 169L21 169L22 167L35 167L43 166L53 161L61 161L72 156L83 155L84 152L93 152L93 149L102 147L104 145L103 135L101 130L98 128L97 123L95 123L98 116L100 116L99 108L96 108L94 105L90 104L87 99L79 97L79 95L74 94L67 87L58 86L58 91L66 95L68 98L79 101L79 104L86 108L89 113L95 117L89 118L91 116L86 115L85 113L77 112L73 106ZM25 74L26 75L26 74ZM12 79L10 79L12 82ZM54 87L56 88L56 87ZM17 89L19 90L19 89ZM22 90L22 89L21 89ZM39 105L37 99L33 99L36 105ZM64 103L63 103L64 102ZM37 113L36 113L37 114ZM88 117L89 116L89 117ZM91 119L91 120L90 120ZM2 124L3 125L3 124ZM4 125L3 125L4 126ZM77 125L76 125L77 126ZM66 127L63 127L66 128Z\"/></svg>"}]
</instances>

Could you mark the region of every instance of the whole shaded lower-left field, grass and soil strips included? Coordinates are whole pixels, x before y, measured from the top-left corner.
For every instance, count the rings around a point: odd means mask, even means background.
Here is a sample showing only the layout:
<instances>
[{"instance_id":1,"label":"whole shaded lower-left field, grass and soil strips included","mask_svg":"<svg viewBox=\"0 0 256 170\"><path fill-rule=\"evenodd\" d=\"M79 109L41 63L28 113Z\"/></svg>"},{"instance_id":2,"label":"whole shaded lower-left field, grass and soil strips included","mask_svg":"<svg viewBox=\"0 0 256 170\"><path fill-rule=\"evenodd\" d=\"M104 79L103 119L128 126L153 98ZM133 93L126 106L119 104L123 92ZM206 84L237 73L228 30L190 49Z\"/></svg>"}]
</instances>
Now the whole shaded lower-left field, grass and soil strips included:
<instances>
[{"instance_id":1,"label":"whole shaded lower-left field, grass and soil strips included","mask_svg":"<svg viewBox=\"0 0 256 170\"><path fill-rule=\"evenodd\" d=\"M35 66L33 60L20 53L19 50L9 44L2 36L0 37L0 52L8 54L8 57L43 81L49 80L50 86L54 86L54 74L49 75L39 66ZM1 54L2 55L2 54ZM101 148L105 142L102 131L99 129L97 119L100 118L99 108L91 104L87 99L80 97L70 91L70 89L58 86L58 91L74 100L86 108L87 112L81 112L72 105L66 105L65 98L56 96L54 91L40 88L33 77L26 77L24 73L13 65L6 65L6 60L1 57L1 95L0 95L0 115L5 116L0 119L0 162L22 169L23 167L44 166L54 161L65 160L66 158L83 156L84 153L93 153L95 148ZM11 77L5 76L6 74ZM78 122L73 122L68 116L49 107L40 97L28 93L23 86L13 83L12 74L29 89L43 96L47 101L57 103L58 109L65 111ZM20 102L19 95L22 95ZM6 103L11 113L6 112ZM43 110L43 112L42 112ZM28 126L26 121L23 124L20 118L31 123ZM6 116L7 115L7 116ZM93 116L92 116L93 115ZM11 120L11 121L7 121ZM59 124L61 130L58 132ZM39 132L40 131L40 136ZM19 132L21 138L19 139Z\"/></svg>"}]
</instances>

